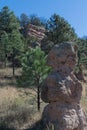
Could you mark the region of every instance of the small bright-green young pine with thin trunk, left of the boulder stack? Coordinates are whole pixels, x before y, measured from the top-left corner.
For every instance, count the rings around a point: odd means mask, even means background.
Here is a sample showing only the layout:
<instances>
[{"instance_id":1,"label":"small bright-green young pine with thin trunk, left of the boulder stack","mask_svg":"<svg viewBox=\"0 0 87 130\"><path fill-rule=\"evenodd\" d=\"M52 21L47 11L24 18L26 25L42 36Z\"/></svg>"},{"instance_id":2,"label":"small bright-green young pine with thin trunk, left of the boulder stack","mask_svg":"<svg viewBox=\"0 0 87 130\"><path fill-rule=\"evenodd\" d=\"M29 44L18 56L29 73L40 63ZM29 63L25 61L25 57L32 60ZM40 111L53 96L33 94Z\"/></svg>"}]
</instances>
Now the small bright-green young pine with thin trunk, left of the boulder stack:
<instances>
[{"instance_id":1,"label":"small bright-green young pine with thin trunk, left of the boulder stack","mask_svg":"<svg viewBox=\"0 0 87 130\"><path fill-rule=\"evenodd\" d=\"M40 110L40 87L51 68L46 65L45 53L39 48L30 48L21 57L22 76L18 80L21 86L36 86L37 88L37 108Z\"/></svg>"}]
</instances>

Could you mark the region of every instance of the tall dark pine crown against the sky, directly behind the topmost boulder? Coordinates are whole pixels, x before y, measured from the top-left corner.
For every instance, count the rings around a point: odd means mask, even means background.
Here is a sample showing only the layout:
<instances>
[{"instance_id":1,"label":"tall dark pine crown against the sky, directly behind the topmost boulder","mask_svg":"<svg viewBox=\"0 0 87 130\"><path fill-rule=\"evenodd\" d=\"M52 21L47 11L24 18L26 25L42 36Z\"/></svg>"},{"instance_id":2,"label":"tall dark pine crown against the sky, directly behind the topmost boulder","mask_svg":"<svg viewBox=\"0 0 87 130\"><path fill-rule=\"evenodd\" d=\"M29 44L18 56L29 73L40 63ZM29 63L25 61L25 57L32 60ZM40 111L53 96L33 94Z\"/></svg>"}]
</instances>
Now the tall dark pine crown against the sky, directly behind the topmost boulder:
<instances>
[{"instance_id":1,"label":"tall dark pine crown against the sky, directly behind the topmost boulder","mask_svg":"<svg viewBox=\"0 0 87 130\"><path fill-rule=\"evenodd\" d=\"M71 25L57 14L51 16L47 22L48 40L58 44L65 41L76 41L77 35Z\"/></svg>"}]
</instances>

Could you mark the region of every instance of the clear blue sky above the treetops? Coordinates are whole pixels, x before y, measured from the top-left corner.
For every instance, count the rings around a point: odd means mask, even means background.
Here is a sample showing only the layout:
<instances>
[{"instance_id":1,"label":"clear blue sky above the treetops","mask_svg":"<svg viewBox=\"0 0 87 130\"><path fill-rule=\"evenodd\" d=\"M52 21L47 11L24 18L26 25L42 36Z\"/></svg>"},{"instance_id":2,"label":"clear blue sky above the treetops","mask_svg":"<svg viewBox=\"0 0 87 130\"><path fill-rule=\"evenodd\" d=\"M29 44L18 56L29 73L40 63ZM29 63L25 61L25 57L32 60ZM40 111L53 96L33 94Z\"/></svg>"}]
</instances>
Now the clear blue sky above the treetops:
<instances>
[{"instance_id":1,"label":"clear blue sky above the treetops","mask_svg":"<svg viewBox=\"0 0 87 130\"><path fill-rule=\"evenodd\" d=\"M87 0L0 0L0 10L4 6L17 17L25 13L49 19L56 13L68 21L78 37L87 36Z\"/></svg>"}]
</instances>

